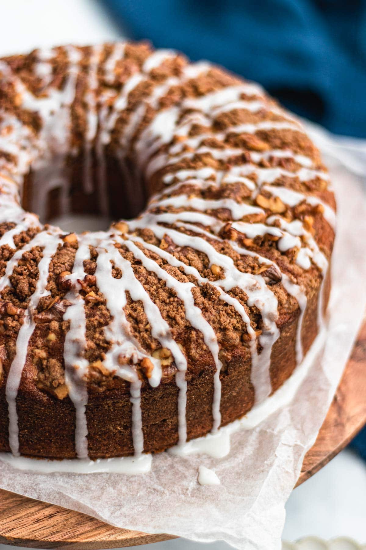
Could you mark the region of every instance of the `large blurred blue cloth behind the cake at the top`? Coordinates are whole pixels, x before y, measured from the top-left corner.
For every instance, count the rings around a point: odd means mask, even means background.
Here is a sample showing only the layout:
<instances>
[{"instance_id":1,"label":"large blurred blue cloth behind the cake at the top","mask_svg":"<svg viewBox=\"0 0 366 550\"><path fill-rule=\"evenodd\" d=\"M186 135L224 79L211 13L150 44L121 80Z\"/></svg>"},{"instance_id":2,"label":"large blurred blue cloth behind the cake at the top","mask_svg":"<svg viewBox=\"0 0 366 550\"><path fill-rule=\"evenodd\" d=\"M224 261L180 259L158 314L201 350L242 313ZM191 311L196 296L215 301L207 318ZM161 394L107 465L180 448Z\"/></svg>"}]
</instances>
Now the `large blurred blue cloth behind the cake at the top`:
<instances>
[{"instance_id":1,"label":"large blurred blue cloth behind the cake at the top","mask_svg":"<svg viewBox=\"0 0 366 550\"><path fill-rule=\"evenodd\" d=\"M339 134L366 137L366 0L102 0L134 40L260 82Z\"/></svg>"}]
</instances>

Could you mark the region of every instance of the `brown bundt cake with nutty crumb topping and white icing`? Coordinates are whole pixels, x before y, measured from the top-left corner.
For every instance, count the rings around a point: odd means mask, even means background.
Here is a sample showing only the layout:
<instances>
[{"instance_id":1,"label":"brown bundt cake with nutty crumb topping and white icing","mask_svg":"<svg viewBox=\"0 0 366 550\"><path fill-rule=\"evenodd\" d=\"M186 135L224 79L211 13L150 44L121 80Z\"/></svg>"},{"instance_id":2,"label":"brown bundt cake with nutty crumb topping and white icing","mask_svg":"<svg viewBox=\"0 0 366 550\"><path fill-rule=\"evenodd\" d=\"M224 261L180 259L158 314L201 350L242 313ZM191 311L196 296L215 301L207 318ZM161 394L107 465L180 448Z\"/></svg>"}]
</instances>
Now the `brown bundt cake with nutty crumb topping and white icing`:
<instances>
[{"instance_id":1,"label":"brown bundt cake with nutty crumb topping and white icing","mask_svg":"<svg viewBox=\"0 0 366 550\"><path fill-rule=\"evenodd\" d=\"M256 84L145 42L2 58L0 180L2 451L109 458L215 433L318 334L334 195ZM119 221L50 224L70 212Z\"/></svg>"}]
</instances>

